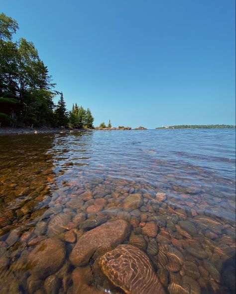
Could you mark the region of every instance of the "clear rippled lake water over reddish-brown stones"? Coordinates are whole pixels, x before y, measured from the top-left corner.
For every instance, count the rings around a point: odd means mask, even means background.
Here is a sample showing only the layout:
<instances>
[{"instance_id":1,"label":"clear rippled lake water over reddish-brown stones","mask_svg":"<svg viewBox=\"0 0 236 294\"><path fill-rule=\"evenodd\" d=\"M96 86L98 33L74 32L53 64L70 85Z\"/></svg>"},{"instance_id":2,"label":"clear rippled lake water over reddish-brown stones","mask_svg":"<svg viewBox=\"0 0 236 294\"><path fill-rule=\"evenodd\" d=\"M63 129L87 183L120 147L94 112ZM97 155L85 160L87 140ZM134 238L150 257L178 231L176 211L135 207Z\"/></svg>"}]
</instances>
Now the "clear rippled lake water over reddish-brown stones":
<instances>
[{"instance_id":1,"label":"clear rippled lake water over reddish-brown stones","mask_svg":"<svg viewBox=\"0 0 236 294\"><path fill-rule=\"evenodd\" d=\"M71 257L110 219L167 293L234 293L235 130L0 136L0 150L1 293L123 293L94 252Z\"/></svg>"}]
</instances>

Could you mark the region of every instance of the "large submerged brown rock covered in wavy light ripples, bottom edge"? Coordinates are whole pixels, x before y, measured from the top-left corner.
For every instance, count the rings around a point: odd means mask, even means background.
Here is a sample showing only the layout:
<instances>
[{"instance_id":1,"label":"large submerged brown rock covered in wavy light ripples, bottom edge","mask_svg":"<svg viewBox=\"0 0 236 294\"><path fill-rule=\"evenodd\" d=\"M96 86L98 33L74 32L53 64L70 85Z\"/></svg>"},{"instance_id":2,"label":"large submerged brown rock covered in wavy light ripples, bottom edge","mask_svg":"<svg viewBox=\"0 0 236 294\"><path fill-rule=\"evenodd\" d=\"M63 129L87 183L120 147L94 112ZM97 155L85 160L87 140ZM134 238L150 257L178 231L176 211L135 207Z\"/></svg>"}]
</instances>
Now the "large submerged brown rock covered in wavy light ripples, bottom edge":
<instances>
[{"instance_id":1,"label":"large submerged brown rock covered in wavy light ripples, bottom edge","mask_svg":"<svg viewBox=\"0 0 236 294\"><path fill-rule=\"evenodd\" d=\"M119 245L100 259L104 274L127 294L164 294L147 255L132 245Z\"/></svg>"}]
</instances>

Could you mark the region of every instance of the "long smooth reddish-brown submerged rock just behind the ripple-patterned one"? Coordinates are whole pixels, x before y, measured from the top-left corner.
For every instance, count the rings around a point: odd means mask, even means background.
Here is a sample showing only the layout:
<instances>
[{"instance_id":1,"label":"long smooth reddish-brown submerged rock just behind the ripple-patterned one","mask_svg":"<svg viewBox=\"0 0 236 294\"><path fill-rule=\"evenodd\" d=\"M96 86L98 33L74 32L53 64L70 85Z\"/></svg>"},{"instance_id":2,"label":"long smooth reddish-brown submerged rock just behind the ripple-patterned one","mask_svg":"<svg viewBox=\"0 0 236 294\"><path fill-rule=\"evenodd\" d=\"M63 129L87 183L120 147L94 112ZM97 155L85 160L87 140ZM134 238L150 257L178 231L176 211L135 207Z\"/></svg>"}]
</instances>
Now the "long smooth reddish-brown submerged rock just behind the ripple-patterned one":
<instances>
[{"instance_id":1,"label":"long smooth reddish-brown submerged rock just behind the ripple-patterned one","mask_svg":"<svg viewBox=\"0 0 236 294\"><path fill-rule=\"evenodd\" d=\"M111 219L105 224L86 232L73 248L70 261L74 266L88 263L96 250L103 252L113 249L129 233L129 225L122 219Z\"/></svg>"}]
</instances>

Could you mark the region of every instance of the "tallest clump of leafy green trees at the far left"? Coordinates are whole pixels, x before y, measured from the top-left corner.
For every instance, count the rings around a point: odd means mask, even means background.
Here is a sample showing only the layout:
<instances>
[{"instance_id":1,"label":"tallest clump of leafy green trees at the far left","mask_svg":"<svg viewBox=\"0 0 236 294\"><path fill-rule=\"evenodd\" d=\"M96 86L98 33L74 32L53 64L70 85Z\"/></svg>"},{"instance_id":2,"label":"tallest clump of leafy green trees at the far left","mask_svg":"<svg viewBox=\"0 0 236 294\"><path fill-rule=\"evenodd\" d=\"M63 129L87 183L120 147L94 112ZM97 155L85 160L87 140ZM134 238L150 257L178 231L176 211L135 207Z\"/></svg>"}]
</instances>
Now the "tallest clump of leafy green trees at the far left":
<instances>
[{"instance_id":1,"label":"tallest clump of leafy green trees at the far left","mask_svg":"<svg viewBox=\"0 0 236 294\"><path fill-rule=\"evenodd\" d=\"M3 124L38 127L55 124L51 76L32 42L12 42L18 24L0 14L0 99L1 112L10 120Z\"/></svg>"}]
</instances>

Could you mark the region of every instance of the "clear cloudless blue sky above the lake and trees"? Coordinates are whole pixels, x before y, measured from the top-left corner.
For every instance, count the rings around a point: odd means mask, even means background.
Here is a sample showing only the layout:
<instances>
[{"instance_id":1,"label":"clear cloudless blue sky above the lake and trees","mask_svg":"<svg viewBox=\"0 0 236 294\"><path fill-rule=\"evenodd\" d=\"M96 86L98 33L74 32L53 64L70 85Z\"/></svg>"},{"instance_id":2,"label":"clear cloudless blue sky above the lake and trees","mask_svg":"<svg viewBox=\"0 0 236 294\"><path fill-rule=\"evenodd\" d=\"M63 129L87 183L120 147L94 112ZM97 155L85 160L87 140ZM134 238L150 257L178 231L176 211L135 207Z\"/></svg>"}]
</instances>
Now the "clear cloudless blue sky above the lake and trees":
<instances>
[{"instance_id":1,"label":"clear cloudless blue sky above the lake and trees","mask_svg":"<svg viewBox=\"0 0 236 294\"><path fill-rule=\"evenodd\" d=\"M235 124L235 0L0 0L95 125Z\"/></svg>"}]
</instances>

